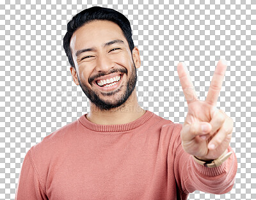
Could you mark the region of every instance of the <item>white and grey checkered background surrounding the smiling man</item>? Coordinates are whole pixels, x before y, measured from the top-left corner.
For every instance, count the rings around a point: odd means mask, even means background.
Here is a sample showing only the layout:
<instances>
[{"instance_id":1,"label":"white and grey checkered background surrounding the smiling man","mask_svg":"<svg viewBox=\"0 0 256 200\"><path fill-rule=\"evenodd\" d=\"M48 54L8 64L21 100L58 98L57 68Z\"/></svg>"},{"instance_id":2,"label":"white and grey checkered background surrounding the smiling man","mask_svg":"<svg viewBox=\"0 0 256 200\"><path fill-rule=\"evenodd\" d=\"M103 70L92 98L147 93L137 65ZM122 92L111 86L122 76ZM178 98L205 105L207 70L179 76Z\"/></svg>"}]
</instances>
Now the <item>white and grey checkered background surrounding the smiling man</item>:
<instances>
[{"instance_id":1,"label":"white and grey checkered background surrounding the smiling man","mask_svg":"<svg viewBox=\"0 0 256 200\"><path fill-rule=\"evenodd\" d=\"M77 12L104 6L131 21L143 65L144 109L183 123L188 111L176 65L185 61L204 100L217 61L229 61L218 107L234 119L238 171L228 194L189 199L256 199L256 1L0 1L0 199L14 199L26 152L89 111L62 47Z\"/></svg>"}]
</instances>

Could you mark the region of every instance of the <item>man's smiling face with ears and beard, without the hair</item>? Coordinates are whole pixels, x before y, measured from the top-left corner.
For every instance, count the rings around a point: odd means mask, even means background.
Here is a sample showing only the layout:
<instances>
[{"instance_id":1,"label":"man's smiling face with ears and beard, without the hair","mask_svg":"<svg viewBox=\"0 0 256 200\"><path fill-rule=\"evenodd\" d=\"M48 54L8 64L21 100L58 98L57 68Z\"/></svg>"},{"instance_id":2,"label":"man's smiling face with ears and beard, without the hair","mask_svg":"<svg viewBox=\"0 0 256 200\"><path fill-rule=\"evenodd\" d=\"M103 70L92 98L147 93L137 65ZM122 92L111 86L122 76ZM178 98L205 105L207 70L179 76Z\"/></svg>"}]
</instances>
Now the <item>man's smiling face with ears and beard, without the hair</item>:
<instances>
[{"instance_id":1,"label":"man's smiling face with ears and beard, without the hair","mask_svg":"<svg viewBox=\"0 0 256 200\"><path fill-rule=\"evenodd\" d=\"M131 54L122 29L106 20L89 22L77 29L70 47L72 76L90 101L101 110L124 104L136 86L140 55L136 47Z\"/></svg>"}]
</instances>

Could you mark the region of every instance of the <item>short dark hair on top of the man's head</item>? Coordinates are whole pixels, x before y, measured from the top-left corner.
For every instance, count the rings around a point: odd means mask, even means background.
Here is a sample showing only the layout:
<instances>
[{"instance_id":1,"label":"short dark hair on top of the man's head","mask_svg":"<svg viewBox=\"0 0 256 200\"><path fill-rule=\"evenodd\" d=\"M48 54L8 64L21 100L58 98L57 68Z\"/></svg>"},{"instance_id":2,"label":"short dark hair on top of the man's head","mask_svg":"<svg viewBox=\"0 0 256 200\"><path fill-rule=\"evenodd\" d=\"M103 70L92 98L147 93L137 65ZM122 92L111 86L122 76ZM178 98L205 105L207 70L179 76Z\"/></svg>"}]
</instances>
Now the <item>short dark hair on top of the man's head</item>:
<instances>
[{"instance_id":1,"label":"short dark hair on top of the man's head","mask_svg":"<svg viewBox=\"0 0 256 200\"><path fill-rule=\"evenodd\" d=\"M72 58L72 52L70 49L70 40L73 33L81 26L93 20L109 20L117 24L123 31L124 36L129 44L129 48L132 52L134 49L134 43L132 40L132 29L129 20L120 12L110 8L102 8L94 6L92 8L85 9L80 13L77 13L70 22L67 24L67 33L63 38L63 47L68 57L68 61L72 67L75 68Z\"/></svg>"}]
</instances>

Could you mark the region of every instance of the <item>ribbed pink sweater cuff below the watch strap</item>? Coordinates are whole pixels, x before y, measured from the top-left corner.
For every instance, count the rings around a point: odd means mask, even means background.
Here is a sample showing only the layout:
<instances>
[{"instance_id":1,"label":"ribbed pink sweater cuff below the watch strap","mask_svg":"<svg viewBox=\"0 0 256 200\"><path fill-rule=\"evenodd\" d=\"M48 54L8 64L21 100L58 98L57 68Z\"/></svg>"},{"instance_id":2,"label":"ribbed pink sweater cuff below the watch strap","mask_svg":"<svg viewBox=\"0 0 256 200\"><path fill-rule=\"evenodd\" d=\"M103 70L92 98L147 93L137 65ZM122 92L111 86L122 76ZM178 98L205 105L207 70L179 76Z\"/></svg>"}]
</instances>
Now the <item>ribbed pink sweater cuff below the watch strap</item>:
<instances>
[{"instance_id":1,"label":"ribbed pink sweater cuff below the watch strap","mask_svg":"<svg viewBox=\"0 0 256 200\"><path fill-rule=\"evenodd\" d=\"M228 147L228 152L230 151L232 150L230 147ZM204 165L198 164L192 157L191 157L191 160L193 162L193 167L195 167L199 173L205 174L206 176L218 176L227 171L228 162L232 162L231 160L233 160L233 157L234 155L231 155L227 160L225 160L225 162L223 162L223 164L213 168L205 167Z\"/></svg>"}]
</instances>

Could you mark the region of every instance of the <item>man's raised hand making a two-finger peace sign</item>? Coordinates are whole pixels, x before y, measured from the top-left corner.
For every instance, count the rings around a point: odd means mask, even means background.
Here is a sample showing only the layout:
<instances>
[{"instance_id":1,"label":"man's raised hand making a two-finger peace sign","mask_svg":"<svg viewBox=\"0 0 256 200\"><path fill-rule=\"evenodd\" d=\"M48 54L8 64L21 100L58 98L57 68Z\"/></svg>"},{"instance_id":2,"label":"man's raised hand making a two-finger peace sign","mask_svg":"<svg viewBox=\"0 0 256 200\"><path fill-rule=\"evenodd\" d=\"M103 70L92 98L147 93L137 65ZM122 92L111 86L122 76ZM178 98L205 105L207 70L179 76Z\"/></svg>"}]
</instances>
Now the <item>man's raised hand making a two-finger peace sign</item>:
<instances>
[{"instance_id":1,"label":"man's raised hand making a two-finger peace sign","mask_svg":"<svg viewBox=\"0 0 256 200\"><path fill-rule=\"evenodd\" d=\"M232 137L232 119L216 109L226 70L227 61L218 61L207 98L201 101L196 96L186 65L179 63L177 66L180 84L188 102L188 115L180 131L182 146L184 151L200 160L220 157L227 150Z\"/></svg>"}]
</instances>

